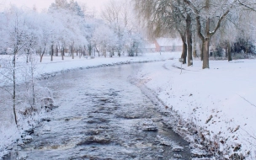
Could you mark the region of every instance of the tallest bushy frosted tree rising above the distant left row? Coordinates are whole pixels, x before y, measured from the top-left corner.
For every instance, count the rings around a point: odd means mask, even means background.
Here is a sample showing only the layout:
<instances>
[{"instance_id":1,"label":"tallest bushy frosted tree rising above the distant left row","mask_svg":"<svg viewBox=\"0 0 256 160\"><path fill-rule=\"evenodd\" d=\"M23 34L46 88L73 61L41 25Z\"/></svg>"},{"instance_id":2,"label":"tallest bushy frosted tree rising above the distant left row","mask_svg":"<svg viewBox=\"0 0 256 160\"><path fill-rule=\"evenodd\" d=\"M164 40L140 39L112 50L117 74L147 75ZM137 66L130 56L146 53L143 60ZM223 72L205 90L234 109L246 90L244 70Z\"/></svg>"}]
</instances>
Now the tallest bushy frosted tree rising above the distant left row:
<instances>
[{"instance_id":1,"label":"tallest bushy frosted tree rising above the distant left row","mask_svg":"<svg viewBox=\"0 0 256 160\"><path fill-rule=\"evenodd\" d=\"M61 45L62 50L62 59L64 56L65 48L69 47L70 54L72 58L74 58L74 52L85 49L84 46L88 44L86 39L86 29L84 29L84 24L86 23L79 7L78 3L71 1L67 3L67 1L62 2L64 4L52 3L49 8L49 13L53 17L59 21L62 27L56 28L60 35L56 35L57 44ZM63 16L65 15L65 16ZM53 45L51 45L53 46ZM53 52L53 47L51 47L51 52Z\"/></svg>"}]
</instances>

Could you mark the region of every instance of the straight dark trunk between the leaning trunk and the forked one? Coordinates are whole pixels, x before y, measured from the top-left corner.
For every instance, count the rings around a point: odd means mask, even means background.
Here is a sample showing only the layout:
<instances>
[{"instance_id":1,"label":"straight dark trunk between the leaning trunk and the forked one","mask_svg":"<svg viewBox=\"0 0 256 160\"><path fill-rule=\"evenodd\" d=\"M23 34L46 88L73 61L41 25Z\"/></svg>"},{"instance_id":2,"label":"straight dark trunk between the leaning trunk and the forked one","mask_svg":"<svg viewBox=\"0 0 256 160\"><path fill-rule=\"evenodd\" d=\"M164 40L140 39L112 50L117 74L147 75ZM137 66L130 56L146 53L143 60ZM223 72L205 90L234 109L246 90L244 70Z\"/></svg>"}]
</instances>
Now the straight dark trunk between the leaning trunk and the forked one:
<instances>
[{"instance_id":1,"label":"straight dark trunk between the leaning trunk and the forked one","mask_svg":"<svg viewBox=\"0 0 256 160\"><path fill-rule=\"evenodd\" d=\"M193 65L192 57L192 32L191 32L191 16L187 15L186 19L186 35L187 35L187 50L188 50L188 67Z\"/></svg>"}]
</instances>

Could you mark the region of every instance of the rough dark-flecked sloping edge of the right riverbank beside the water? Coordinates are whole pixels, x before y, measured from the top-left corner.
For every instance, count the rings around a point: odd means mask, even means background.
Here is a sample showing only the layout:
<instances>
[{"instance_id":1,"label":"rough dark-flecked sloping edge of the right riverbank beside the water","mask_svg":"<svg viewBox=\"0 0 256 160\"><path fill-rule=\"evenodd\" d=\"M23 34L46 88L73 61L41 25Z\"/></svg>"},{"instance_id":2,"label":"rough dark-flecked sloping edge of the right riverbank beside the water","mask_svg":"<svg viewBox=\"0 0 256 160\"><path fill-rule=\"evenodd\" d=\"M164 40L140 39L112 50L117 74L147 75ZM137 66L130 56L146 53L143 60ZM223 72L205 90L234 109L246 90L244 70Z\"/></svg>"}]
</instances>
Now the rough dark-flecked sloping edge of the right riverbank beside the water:
<instances>
[{"instance_id":1,"label":"rough dark-flecked sloping edge of the right riverbank beside the water","mask_svg":"<svg viewBox=\"0 0 256 160\"><path fill-rule=\"evenodd\" d=\"M156 109L163 115L163 124L167 125L185 141L189 142L191 148L191 158L198 160L210 160L210 159L245 159L249 155L239 154L234 151L232 155L224 155L223 152L216 147L216 140L225 139L225 137L216 135L216 139L211 139L207 135L211 131L205 130L200 125L196 125L193 120L184 120L183 116L179 114L173 107L168 106L162 99L157 97L151 88L146 86L147 79L141 79L137 77L131 77L130 82L141 89L141 93L145 94L148 99L152 101L152 104L156 106ZM239 149L239 144L233 149ZM223 149L223 148L222 148ZM224 150L229 148L224 148ZM238 150L237 150L238 151Z\"/></svg>"}]
</instances>

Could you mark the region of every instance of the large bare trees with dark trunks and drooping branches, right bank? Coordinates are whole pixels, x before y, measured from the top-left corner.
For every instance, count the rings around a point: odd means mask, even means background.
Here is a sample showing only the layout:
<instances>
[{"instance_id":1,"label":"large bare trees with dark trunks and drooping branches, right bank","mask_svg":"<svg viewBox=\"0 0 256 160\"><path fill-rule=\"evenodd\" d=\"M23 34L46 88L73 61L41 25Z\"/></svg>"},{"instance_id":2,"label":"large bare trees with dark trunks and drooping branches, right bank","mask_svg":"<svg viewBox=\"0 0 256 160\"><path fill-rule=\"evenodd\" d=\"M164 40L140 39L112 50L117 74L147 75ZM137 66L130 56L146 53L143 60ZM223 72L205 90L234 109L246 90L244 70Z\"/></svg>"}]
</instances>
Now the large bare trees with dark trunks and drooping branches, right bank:
<instances>
[{"instance_id":1,"label":"large bare trees with dark trunks and drooping branches, right bank","mask_svg":"<svg viewBox=\"0 0 256 160\"><path fill-rule=\"evenodd\" d=\"M149 35L180 36L181 57L188 66L193 64L193 43L200 43L205 69L210 67L210 45L226 42L230 61L231 43L239 38L252 38L254 0L134 0L134 3Z\"/></svg>"}]
</instances>

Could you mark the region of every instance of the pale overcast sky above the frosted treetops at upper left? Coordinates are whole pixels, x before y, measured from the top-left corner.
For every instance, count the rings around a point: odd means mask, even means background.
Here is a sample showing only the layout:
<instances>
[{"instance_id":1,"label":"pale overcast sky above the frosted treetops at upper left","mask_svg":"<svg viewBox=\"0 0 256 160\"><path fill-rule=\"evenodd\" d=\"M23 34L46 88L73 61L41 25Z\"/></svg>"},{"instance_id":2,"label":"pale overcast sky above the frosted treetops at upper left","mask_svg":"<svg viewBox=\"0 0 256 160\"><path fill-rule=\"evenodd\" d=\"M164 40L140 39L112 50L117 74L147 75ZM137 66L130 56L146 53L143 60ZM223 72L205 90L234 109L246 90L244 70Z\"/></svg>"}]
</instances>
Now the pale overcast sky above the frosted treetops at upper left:
<instances>
[{"instance_id":1,"label":"pale overcast sky above the frosted treetops at upper left","mask_svg":"<svg viewBox=\"0 0 256 160\"><path fill-rule=\"evenodd\" d=\"M67 0L69 1L69 0ZM77 0L77 2L86 3L88 8L95 8L98 12L104 6L104 3L109 0ZM10 3L15 4L18 7L29 7L33 8L35 5L36 8L40 11L43 8L48 8L51 3L54 3L55 0L0 0L0 5L2 8L7 7Z\"/></svg>"}]
</instances>

